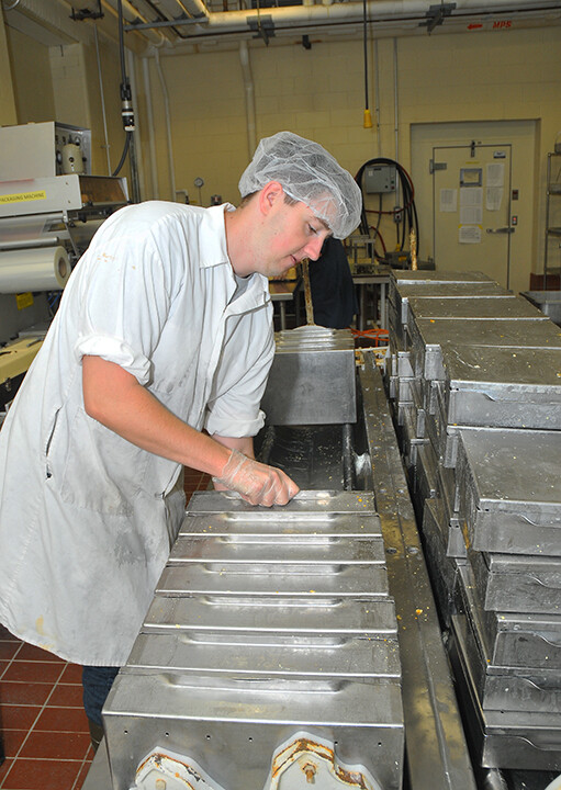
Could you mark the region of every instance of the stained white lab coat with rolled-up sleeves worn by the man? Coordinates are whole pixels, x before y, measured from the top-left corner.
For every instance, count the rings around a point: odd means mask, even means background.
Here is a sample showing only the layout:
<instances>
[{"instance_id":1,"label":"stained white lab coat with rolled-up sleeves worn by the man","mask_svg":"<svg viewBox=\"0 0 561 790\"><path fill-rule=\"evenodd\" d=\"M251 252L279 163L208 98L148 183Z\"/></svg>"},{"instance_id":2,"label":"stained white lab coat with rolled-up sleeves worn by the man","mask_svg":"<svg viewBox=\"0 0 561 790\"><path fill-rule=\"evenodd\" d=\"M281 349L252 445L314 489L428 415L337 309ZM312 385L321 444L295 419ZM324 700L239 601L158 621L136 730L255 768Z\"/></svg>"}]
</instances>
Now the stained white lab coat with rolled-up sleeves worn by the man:
<instances>
[{"instance_id":1,"label":"stained white lab coat with rolled-up sleeves worn by the man","mask_svg":"<svg viewBox=\"0 0 561 790\"><path fill-rule=\"evenodd\" d=\"M86 414L82 356L120 364L198 430L263 424L272 308L265 276L233 273L231 208L110 217L0 431L0 622L67 661L125 663L184 508L179 464Z\"/></svg>"}]
</instances>

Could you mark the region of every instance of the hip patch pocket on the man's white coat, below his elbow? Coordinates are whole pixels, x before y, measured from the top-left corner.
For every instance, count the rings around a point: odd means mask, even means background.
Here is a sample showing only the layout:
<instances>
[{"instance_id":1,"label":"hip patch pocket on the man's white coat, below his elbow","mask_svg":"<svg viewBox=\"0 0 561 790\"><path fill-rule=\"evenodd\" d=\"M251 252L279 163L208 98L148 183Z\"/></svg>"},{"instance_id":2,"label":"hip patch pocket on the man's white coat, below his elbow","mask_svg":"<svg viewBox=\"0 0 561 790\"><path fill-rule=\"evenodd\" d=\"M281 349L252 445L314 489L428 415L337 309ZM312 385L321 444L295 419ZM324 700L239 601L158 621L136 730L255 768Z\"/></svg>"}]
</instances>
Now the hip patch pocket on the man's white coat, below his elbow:
<instances>
[{"instance_id":1,"label":"hip patch pocket on the man's white coat, below his elbow","mask_svg":"<svg viewBox=\"0 0 561 790\"><path fill-rule=\"evenodd\" d=\"M138 490L134 479L137 454L134 444L77 408L68 420L60 498L108 516L131 515L132 500Z\"/></svg>"}]
</instances>

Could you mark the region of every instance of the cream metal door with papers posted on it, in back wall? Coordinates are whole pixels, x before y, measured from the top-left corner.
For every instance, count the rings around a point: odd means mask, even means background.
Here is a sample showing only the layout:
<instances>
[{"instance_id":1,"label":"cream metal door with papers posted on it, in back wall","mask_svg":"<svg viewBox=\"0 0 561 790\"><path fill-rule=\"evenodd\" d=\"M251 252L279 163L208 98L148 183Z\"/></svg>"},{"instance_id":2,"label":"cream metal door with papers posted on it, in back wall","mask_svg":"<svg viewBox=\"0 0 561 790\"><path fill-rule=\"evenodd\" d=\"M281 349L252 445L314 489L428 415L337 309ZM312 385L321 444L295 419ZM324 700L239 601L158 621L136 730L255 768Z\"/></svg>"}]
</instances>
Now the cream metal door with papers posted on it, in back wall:
<instances>
[{"instance_id":1,"label":"cream metal door with papers posted on it, in back wall","mask_svg":"<svg viewBox=\"0 0 561 790\"><path fill-rule=\"evenodd\" d=\"M435 146L430 169L436 267L510 287L510 144Z\"/></svg>"}]
</instances>

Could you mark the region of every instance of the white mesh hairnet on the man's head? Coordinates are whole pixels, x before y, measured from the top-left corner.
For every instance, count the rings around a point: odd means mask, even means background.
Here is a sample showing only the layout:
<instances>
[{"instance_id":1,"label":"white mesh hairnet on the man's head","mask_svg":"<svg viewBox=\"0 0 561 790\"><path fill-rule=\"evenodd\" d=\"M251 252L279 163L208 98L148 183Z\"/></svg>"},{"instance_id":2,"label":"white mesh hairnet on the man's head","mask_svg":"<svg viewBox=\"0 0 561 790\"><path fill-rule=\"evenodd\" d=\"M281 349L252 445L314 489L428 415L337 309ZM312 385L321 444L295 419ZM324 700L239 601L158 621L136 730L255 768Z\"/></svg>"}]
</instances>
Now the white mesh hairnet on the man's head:
<instances>
[{"instance_id":1,"label":"white mesh hairnet on the man's head","mask_svg":"<svg viewBox=\"0 0 561 790\"><path fill-rule=\"evenodd\" d=\"M336 238L346 238L360 222L362 193L352 176L318 143L292 132L265 137L239 179L242 198L278 181L305 203Z\"/></svg>"}]
</instances>

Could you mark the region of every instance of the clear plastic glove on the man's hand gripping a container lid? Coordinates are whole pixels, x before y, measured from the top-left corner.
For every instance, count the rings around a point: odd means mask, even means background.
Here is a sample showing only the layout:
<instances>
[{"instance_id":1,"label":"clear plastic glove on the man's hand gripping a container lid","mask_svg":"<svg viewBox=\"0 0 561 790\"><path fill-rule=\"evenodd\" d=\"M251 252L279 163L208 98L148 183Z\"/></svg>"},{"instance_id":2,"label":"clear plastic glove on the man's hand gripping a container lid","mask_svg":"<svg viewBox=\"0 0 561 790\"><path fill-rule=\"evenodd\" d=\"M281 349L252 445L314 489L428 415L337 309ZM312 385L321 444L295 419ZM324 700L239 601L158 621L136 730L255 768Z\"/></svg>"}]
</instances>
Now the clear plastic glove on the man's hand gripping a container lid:
<instances>
[{"instance_id":1,"label":"clear plastic glove on the man's hand gripping a container lid","mask_svg":"<svg viewBox=\"0 0 561 790\"><path fill-rule=\"evenodd\" d=\"M233 450L220 477L213 477L228 490L237 492L250 505L287 505L300 490L282 470L259 463Z\"/></svg>"}]
</instances>

